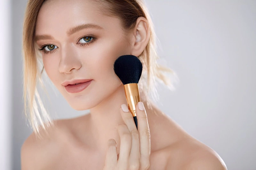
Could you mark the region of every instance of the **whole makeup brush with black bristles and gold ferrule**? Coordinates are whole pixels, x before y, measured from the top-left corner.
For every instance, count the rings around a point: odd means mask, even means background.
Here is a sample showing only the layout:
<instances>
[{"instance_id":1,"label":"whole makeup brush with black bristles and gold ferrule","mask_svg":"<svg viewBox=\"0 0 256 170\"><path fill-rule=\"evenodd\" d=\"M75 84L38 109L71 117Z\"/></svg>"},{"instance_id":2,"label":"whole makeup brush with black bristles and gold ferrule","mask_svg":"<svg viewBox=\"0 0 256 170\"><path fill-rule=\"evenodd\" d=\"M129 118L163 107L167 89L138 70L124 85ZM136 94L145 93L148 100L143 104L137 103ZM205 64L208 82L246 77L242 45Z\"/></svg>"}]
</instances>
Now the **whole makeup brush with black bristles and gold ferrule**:
<instances>
[{"instance_id":1,"label":"whole makeup brush with black bristles and gold ferrule","mask_svg":"<svg viewBox=\"0 0 256 170\"><path fill-rule=\"evenodd\" d=\"M114 71L124 84L128 108L132 113L136 128L138 129L135 107L140 101L138 83L142 73L142 63L140 59L134 55L122 55L116 59Z\"/></svg>"}]
</instances>

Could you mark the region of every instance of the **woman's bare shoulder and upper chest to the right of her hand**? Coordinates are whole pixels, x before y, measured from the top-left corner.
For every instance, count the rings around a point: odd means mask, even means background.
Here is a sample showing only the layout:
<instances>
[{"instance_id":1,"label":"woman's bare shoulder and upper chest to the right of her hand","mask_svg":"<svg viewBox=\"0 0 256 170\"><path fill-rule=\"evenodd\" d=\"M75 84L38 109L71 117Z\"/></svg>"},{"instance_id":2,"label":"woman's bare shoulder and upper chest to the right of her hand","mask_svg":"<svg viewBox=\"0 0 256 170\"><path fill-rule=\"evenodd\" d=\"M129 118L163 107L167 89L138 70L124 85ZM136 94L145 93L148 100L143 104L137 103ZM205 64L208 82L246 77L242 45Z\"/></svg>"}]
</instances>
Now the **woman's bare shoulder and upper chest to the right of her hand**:
<instances>
[{"instance_id":1,"label":"woman's bare shoulder and upper chest to the right of her hand","mask_svg":"<svg viewBox=\"0 0 256 170\"><path fill-rule=\"evenodd\" d=\"M169 116L162 114L155 117L150 124L151 142L158 145L151 152L150 169L227 170L217 152L189 135ZM157 164L159 162L161 164Z\"/></svg>"}]
</instances>

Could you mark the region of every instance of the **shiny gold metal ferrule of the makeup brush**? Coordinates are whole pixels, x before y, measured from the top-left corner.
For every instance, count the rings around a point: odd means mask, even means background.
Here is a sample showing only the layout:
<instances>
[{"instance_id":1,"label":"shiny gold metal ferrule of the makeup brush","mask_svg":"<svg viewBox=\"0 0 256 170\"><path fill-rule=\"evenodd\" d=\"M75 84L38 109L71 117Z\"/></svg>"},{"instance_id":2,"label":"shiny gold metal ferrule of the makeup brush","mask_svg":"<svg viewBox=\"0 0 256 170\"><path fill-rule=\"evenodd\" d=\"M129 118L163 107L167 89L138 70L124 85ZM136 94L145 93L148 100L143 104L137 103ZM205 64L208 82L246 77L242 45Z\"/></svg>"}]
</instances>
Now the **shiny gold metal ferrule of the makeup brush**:
<instances>
[{"instance_id":1,"label":"shiny gold metal ferrule of the makeup brush","mask_svg":"<svg viewBox=\"0 0 256 170\"><path fill-rule=\"evenodd\" d=\"M124 85L124 91L128 103L128 108L134 117L136 116L136 104L140 101L138 83L129 83Z\"/></svg>"}]
</instances>

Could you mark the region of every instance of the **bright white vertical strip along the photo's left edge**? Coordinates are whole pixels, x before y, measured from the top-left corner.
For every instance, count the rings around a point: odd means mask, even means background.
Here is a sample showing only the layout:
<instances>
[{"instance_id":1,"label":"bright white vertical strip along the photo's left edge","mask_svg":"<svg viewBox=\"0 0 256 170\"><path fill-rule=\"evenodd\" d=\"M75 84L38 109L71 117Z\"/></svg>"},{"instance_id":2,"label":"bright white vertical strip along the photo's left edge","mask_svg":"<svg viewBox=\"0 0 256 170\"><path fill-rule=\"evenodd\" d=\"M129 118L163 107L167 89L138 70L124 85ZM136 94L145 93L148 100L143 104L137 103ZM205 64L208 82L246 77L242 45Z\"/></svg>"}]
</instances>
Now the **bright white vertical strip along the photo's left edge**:
<instances>
[{"instance_id":1,"label":"bright white vertical strip along the photo's left edge","mask_svg":"<svg viewBox=\"0 0 256 170\"><path fill-rule=\"evenodd\" d=\"M0 169L11 169L11 3L0 1Z\"/></svg>"}]
</instances>

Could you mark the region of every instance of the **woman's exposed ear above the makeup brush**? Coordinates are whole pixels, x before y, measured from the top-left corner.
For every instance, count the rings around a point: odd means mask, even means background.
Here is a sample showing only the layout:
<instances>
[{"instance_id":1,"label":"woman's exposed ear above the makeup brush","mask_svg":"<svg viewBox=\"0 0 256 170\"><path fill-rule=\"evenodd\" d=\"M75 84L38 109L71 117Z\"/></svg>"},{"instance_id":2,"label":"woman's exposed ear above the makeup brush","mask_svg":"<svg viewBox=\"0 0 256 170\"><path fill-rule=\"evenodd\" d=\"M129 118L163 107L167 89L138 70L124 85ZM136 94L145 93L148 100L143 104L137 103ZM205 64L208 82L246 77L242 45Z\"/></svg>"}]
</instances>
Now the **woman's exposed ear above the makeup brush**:
<instances>
[{"instance_id":1,"label":"woman's exposed ear above the makeup brush","mask_svg":"<svg viewBox=\"0 0 256 170\"><path fill-rule=\"evenodd\" d=\"M144 17L137 19L132 33L131 55L139 56L144 51L149 40L148 20Z\"/></svg>"}]
</instances>

